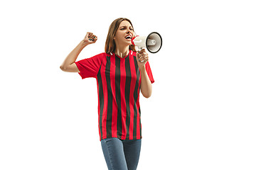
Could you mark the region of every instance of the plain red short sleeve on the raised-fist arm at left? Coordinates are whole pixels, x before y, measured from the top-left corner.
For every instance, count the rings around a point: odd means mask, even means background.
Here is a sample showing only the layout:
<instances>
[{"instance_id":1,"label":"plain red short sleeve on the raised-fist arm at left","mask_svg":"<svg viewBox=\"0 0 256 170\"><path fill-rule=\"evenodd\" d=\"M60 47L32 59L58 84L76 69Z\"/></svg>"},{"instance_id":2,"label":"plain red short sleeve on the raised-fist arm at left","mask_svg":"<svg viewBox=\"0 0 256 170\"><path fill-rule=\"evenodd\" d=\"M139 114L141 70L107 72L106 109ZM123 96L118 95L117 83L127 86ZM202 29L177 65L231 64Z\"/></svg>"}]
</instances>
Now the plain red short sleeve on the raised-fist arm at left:
<instances>
[{"instance_id":1,"label":"plain red short sleeve on the raised-fist arm at left","mask_svg":"<svg viewBox=\"0 0 256 170\"><path fill-rule=\"evenodd\" d=\"M97 73L100 70L100 65L102 64L102 58L106 55L105 52L100 53L99 55L95 55L94 57L90 57L84 60L80 60L75 62L80 72L80 76L82 79L87 77L96 77Z\"/></svg>"}]
</instances>

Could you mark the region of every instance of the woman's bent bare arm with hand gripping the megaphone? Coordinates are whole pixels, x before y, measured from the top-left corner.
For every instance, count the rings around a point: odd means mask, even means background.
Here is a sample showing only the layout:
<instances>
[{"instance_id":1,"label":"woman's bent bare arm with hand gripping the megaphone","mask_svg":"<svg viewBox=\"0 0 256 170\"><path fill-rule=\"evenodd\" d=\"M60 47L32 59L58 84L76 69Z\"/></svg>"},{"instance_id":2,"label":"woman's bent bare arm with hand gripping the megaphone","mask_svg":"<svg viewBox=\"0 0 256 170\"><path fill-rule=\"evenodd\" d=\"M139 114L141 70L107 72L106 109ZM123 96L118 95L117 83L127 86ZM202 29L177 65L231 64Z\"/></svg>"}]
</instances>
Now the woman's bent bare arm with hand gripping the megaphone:
<instances>
[{"instance_id":1,"label":"woman's bent bare arm with hand gripping the megaphone","mask_svg":"<svg viewBox=\"0 0 256 170\"><path fill-rule=\"evenodd\" d=\"M146 53L145 49L137 53L137 62L138 62L139 70L141 71L141 76L142 76L141 91L142 91L142 95L145 98L149 98L152 94L152 84L148 74L146 73L146 67L145 67L145 64L148 60L149 60L149 56Z\"/></svg>"}]
</instances>

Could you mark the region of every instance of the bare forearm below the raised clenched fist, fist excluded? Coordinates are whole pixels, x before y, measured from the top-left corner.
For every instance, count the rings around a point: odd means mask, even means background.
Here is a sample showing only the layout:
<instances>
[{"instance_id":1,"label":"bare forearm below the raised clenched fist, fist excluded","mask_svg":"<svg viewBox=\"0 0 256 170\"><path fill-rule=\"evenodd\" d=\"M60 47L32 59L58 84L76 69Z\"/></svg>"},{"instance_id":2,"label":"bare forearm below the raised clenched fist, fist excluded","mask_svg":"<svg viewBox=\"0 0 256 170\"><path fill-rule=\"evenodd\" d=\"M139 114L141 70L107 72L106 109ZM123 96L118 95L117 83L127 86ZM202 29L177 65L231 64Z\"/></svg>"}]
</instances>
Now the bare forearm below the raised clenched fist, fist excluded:
<instances>
[{"instance_id":1,"label":"bare forearm below the raised clenched fist, fist excluded","mask_svg":"<svg viewBox=\"0 0 256 170\"><path fill-rule=\"evenodd\" d=\"M65 68L65 67L68 67L70 64L73 64L73 63L75 62L75 60L77 60L78 55L80 54L80 52L82 51L82 49L83 49L84 47L86 47L86 46L87 46L87 43L86 43L84 40L82 40L82 41L75 47L75 49L72 50L72 51L70 52L70 54L65 58L63 64L61 64L60 67Z\"/></svg>"}]
</instances>

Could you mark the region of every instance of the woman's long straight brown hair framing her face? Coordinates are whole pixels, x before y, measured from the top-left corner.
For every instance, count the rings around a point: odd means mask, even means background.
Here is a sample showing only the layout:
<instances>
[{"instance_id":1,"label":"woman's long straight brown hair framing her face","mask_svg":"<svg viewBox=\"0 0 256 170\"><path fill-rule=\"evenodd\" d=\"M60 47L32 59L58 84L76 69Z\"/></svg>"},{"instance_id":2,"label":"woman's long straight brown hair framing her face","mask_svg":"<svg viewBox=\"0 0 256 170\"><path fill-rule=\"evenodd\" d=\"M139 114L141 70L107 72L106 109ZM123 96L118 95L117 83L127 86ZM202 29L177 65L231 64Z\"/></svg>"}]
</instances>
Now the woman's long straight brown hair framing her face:
<instances>
[{"instance_id":1,"label":"woman's long straight brown hair framing her face","mask_svg":"<svg viewBox=\"0 0 256 170\"><path fill-rule=\"evenodd\" d=\"M109 31L107 33L107 40L105 43L105 52L106 53L114 52L116 50L117 46L114 42L114 35L117 33L117 29L119 28L119 25L122 21L128 21L132 26L132 22L129 21L129 19L127 19L127 18L117 18L116 20L114 20L111 23ZM133 26L132 26L132 28L133 28ZM134 52L136 52L134 45L129 45L129 50L133 50Z\"/></svg>"}]
</instances>

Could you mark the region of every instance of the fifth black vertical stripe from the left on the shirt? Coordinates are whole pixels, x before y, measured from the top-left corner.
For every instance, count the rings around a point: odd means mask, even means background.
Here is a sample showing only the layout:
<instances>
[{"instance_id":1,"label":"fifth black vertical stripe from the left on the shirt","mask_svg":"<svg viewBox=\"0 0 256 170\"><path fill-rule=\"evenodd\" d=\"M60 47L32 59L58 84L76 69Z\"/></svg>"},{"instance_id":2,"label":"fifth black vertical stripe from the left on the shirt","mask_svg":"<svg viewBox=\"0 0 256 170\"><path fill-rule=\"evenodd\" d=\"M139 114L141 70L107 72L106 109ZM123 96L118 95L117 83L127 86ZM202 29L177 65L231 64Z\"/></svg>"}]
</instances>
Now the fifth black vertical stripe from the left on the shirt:
<instances>
[{"instance_id":1,"label":"fifth black vertical stripe from the left on the shirt","mask_svg":"<svg viewBox=\"0 0 256 170\"><path fill-rule=\"evenodd\" d=\"M139 72L139 67L138 63L136 60L136 56L134 56L134 65L135 65L135 70L137 74L137 79L135 83L135 88L134 88L134 128L133 128L133 136L137 137L137 100L138 100L138 90L139 90L139 77L140 77L140 72Z\"/></svg>"}]
</instances>

